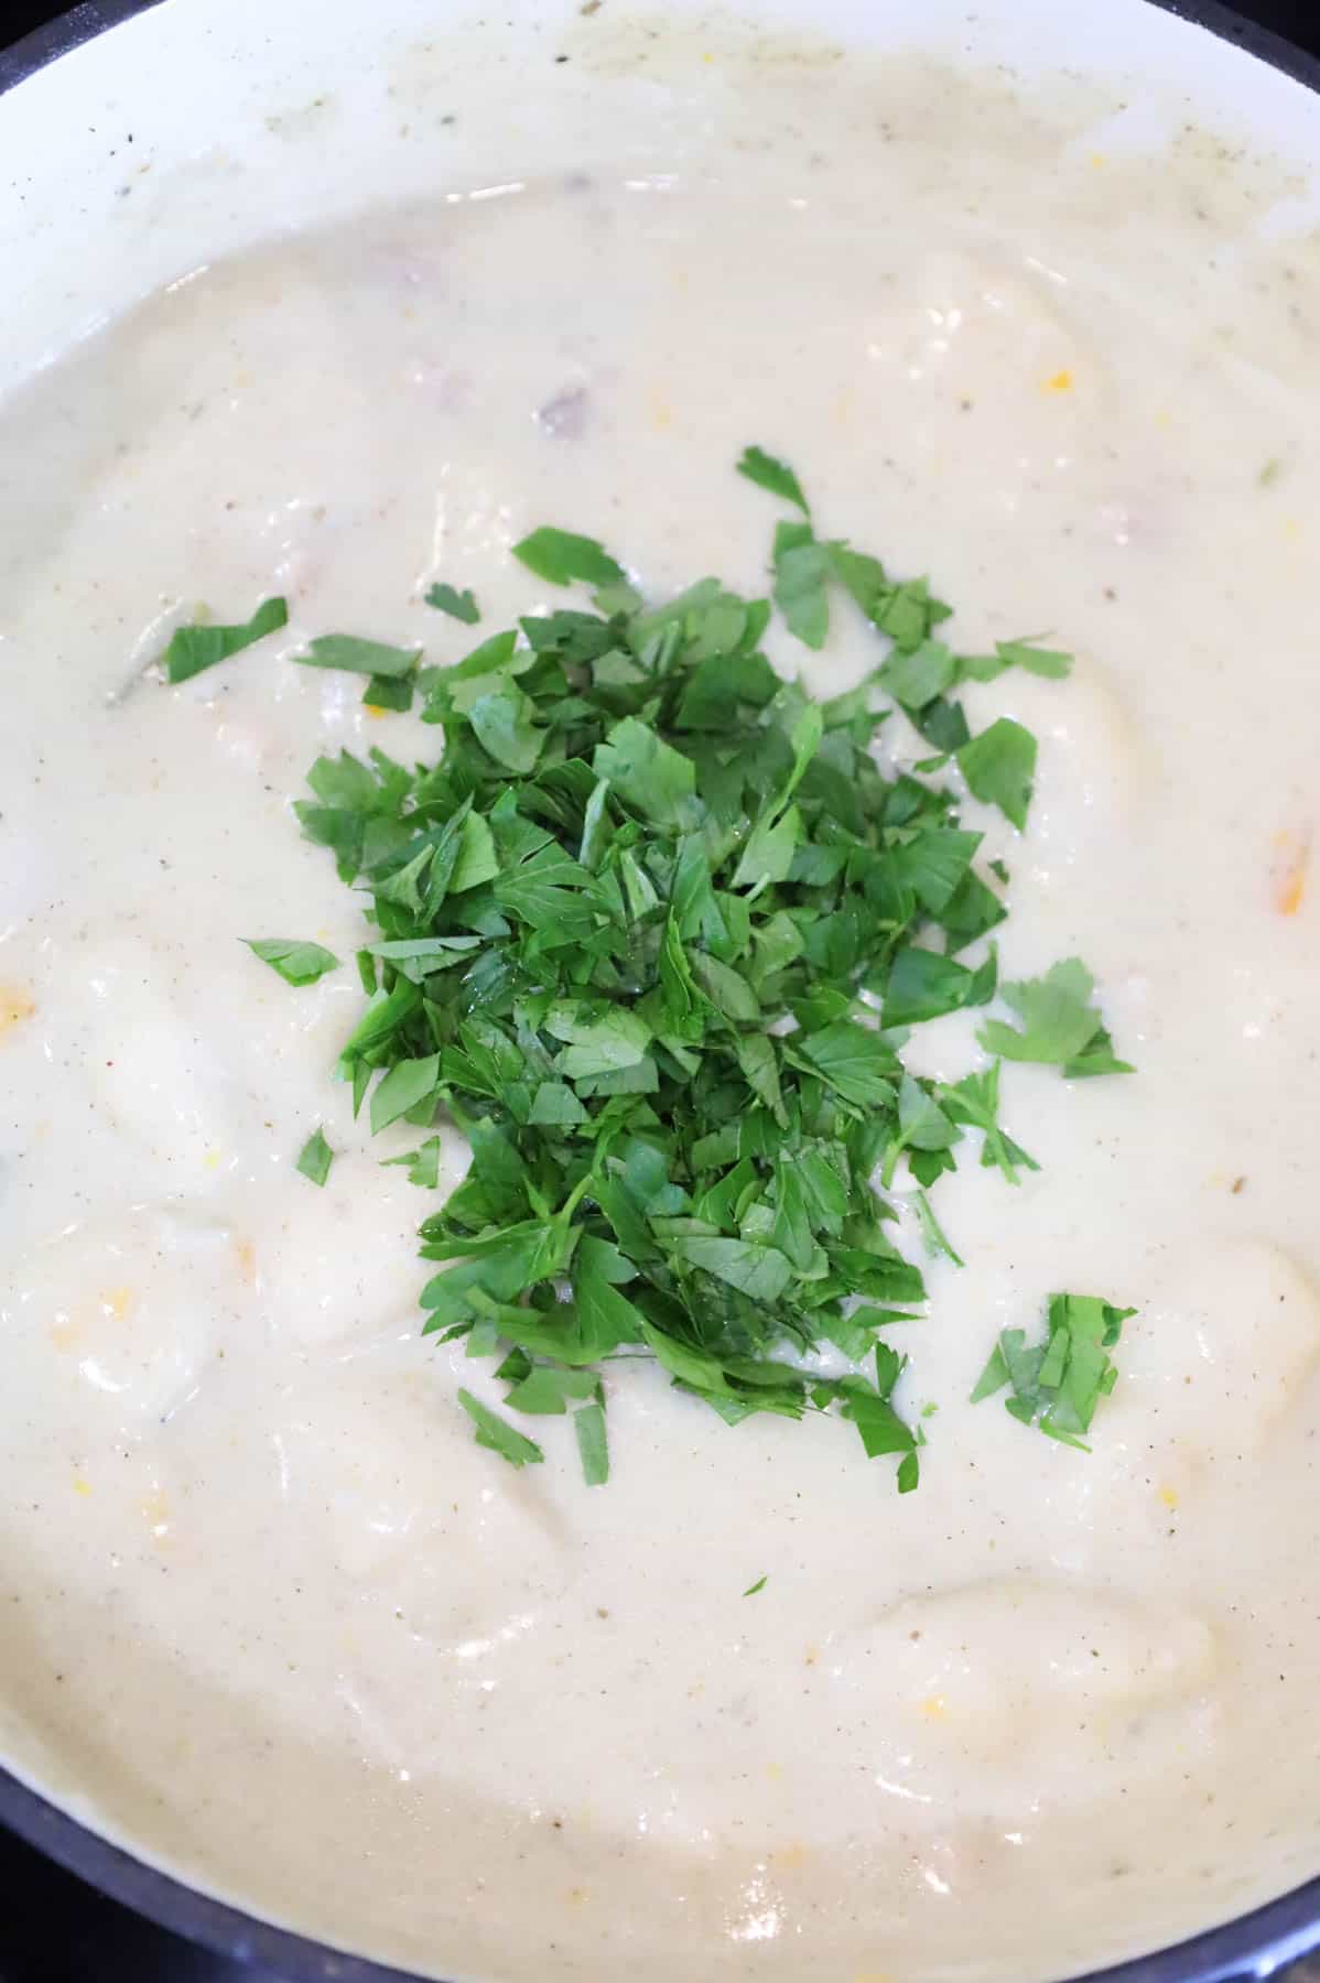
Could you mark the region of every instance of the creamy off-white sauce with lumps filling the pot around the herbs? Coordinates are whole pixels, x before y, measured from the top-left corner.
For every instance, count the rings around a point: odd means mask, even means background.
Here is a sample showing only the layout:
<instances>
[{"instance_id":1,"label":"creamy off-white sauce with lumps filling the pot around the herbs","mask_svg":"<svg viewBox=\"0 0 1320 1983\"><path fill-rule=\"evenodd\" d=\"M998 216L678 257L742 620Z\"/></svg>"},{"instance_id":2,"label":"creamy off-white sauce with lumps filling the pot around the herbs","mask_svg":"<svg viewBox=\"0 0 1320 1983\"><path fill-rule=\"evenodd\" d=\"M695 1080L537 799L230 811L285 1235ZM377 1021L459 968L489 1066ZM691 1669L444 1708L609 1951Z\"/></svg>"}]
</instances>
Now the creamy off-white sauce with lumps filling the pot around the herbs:
<instances>
[{"instance_id":1,"label":"creamy off-white sauce with lumps filling the pot around the herbs","mask_svg":"<svg viewBox=\"0 0 1320 1983\"><path fill-rule=\"evenodd\" d=\"M186 1878L430 1973L1031 1983L1320 1858L1320 268L1195 137L1122 163L916 69L813 73L801 123L749 91L717 169L285 242L0 414L0 1739ZM436 752L287 654L456 658L426 583L501 625L543 522L654 593L755 591L749 440L930 569L957 644L1078 652L971 690L1041 775L1025 839L967 815L1005 976L1080 952L1140 1069L1005 1071L1041 1172L941 1180L967 1267L896 1333L939 1408L902 1501L838 1424L731 1432L636 1366L606 1489L559 1424L527 1473L480 1452L454 1392L497 1386L418 1342L426 1200L377 1162L410 1138L329 1081L355 976L291 992L240 942L349 956L289 801L323 750ZM275 642L141 676L272 591ZM858 680L838 621L777 662ZM963 1073L973 1027L922 1055ZM1054 1287L1140 1309L1090 1458L967 1402Z\"/></svg>"}]
</instances>

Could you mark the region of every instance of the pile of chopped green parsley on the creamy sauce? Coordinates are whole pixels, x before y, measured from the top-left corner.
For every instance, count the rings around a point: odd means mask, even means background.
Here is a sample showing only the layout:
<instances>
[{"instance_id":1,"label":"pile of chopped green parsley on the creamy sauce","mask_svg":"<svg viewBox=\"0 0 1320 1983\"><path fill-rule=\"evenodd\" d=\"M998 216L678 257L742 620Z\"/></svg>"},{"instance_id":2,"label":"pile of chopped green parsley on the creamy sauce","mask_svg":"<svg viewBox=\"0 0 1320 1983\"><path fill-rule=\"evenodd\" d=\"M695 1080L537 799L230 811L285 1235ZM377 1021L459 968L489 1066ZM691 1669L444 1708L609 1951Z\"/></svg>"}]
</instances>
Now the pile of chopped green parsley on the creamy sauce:
<instances>
[{"instance_id":1,"label":"pile of chopped green parsley on the creamy sauce","mask_svg":"<svg viewBox=\"0 0 1320 1983\"><path fill-rule=\"evenodd\" d=\"M928 1249L957 1259L928 1192L969 1134L1011 1184L1037 1168L999 1122L999 1057L1124 1071L1076 960L1003 988L1019 1025L983 1027L985 1071L937 1083L904 1065L912 1027L997 992L981 940L1005 904L935 773L955 761L1017 827L1035 773L1031 732L1001 718L971 736L955 690L1070 660L1023 641L955 654L924 579L819 539L795 474L759 448L739 470L793 510L773 603L702 579L648 605L595 539L539 529L515 555L545 583L591 587L591 609L523 619L448 668L345 635L299 656L369 676L375 706L418 696L444 728L434 765L321 758L297 805L371 898L367 1009L339 1071L373 1130L418 1130L392 1160L418 1186L438 1186L440 1118L468 1138L466 1180L422 1225L426 1331L495 1358L513 1412L573 1412L589 1481L608 1469L601 1370L648 1356L729 1424L850 1420L868 1456L898 1458L906 1491L924 1436L896 1410L906 1358L884 1329L926 1289L894 1243L900 1166ZM472 593L428 597L478 619ZM821 646L848 601L882 660L815 702L761 642L779 609ZM182 635L220 660L262 615L277 625L275 607ZM886 777L872 746L894 706L932 756ZM254 948L291 984L337 962L315 944ZM299 1168L323 1184L329 1166L317 1130ZM1011 1384L1011 1412L1076 1442L1112 1386L1122 1313L1054 1297L1048 1344L1005 1333L981 1392ZM854 1372L821 1374L811 1352L826 1346ZM458 1396L484 1446L541 1459Z\"/></svg>"}]
</instances>

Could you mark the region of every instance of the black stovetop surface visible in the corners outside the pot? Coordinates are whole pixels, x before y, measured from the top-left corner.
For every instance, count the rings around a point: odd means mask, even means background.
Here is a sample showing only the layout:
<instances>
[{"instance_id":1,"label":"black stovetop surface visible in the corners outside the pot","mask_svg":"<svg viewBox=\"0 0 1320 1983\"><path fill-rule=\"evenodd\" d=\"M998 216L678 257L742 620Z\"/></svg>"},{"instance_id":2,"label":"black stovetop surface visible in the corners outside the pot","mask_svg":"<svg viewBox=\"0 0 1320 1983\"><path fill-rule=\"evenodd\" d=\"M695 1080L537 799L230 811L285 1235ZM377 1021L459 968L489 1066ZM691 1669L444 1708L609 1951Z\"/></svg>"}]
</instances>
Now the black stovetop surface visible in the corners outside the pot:
<instances>
[{"instance_id":1,"label":"black stovetop surface visible in the corners outside the pot","mask_svg":"<svg viewBox=\"0 0 1320 1983\"><path fill-rule=\"evenodd\" d=\"M63 10L10 0L0 46ZM1320 56L1320 0L1237 0L1237 12ZM1306 1977L1320 1983L1320 1967L1294 1971L1294 1983ZM0 1828L0 1983L279 1983L279 1977L180 1941Z\"/></svg>"}]
</instances>

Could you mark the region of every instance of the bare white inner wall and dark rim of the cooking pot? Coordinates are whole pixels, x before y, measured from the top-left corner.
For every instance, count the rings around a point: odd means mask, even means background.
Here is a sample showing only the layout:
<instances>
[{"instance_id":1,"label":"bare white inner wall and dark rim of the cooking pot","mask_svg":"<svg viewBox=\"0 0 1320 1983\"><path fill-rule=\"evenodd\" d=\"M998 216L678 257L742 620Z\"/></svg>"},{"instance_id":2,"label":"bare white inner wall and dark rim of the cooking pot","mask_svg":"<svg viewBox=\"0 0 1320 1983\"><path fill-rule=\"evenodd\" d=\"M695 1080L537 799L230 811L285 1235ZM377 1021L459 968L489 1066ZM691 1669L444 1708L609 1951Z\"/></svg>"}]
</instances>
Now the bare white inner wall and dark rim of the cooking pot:
<instances>
[{"instance_id":1,"label":"bare white inner wall and dark rim of the cooking pot","mask_svg":"<svg viewBox=\"0 0 1320 1983\"><path fill-rule=\"evenodd\" d=\"M676 4L676 12L694 0ZM628 12L628 0L610 0ZM1199 117L1268 139L1320 173L1320 63L1251 28L1215 0L755 0L755 18L880 50L920 44L1009 63L1142 77L1181 93ZM347 216L386 190L402 198L452 175L468 182L591 153L587 119L565 117L551 89L559 36L581 32L575 0L505 0L490 24L436 28L434 0L85 0L0 54L0 252L8 311L0 389L87 335L182 270L311 218ZM460 18L462 16L462 18ZM418 59L436 77L462 61L503 65L507 117L497 129L438 117L400 145L388 79ZM684 117L666 109L684 141ZM57 135L57 143L54 141ZM656 129L638 119L644 165ZM614 159L614 163L618 163ZM0 1729L2 1735L2 1729ZM75 1799L69 1799L75 1803ZM133 1858L18 1775L0 1771L0 1820L161 1925L289 1983L386 1983L402 1971L337 1953L248 1918ZM1173 1949L1106 1969L1090 1983L1235 1983L1278 1975L1320 1947L1320 1878Z\"/></svg>"}]
</instances>

